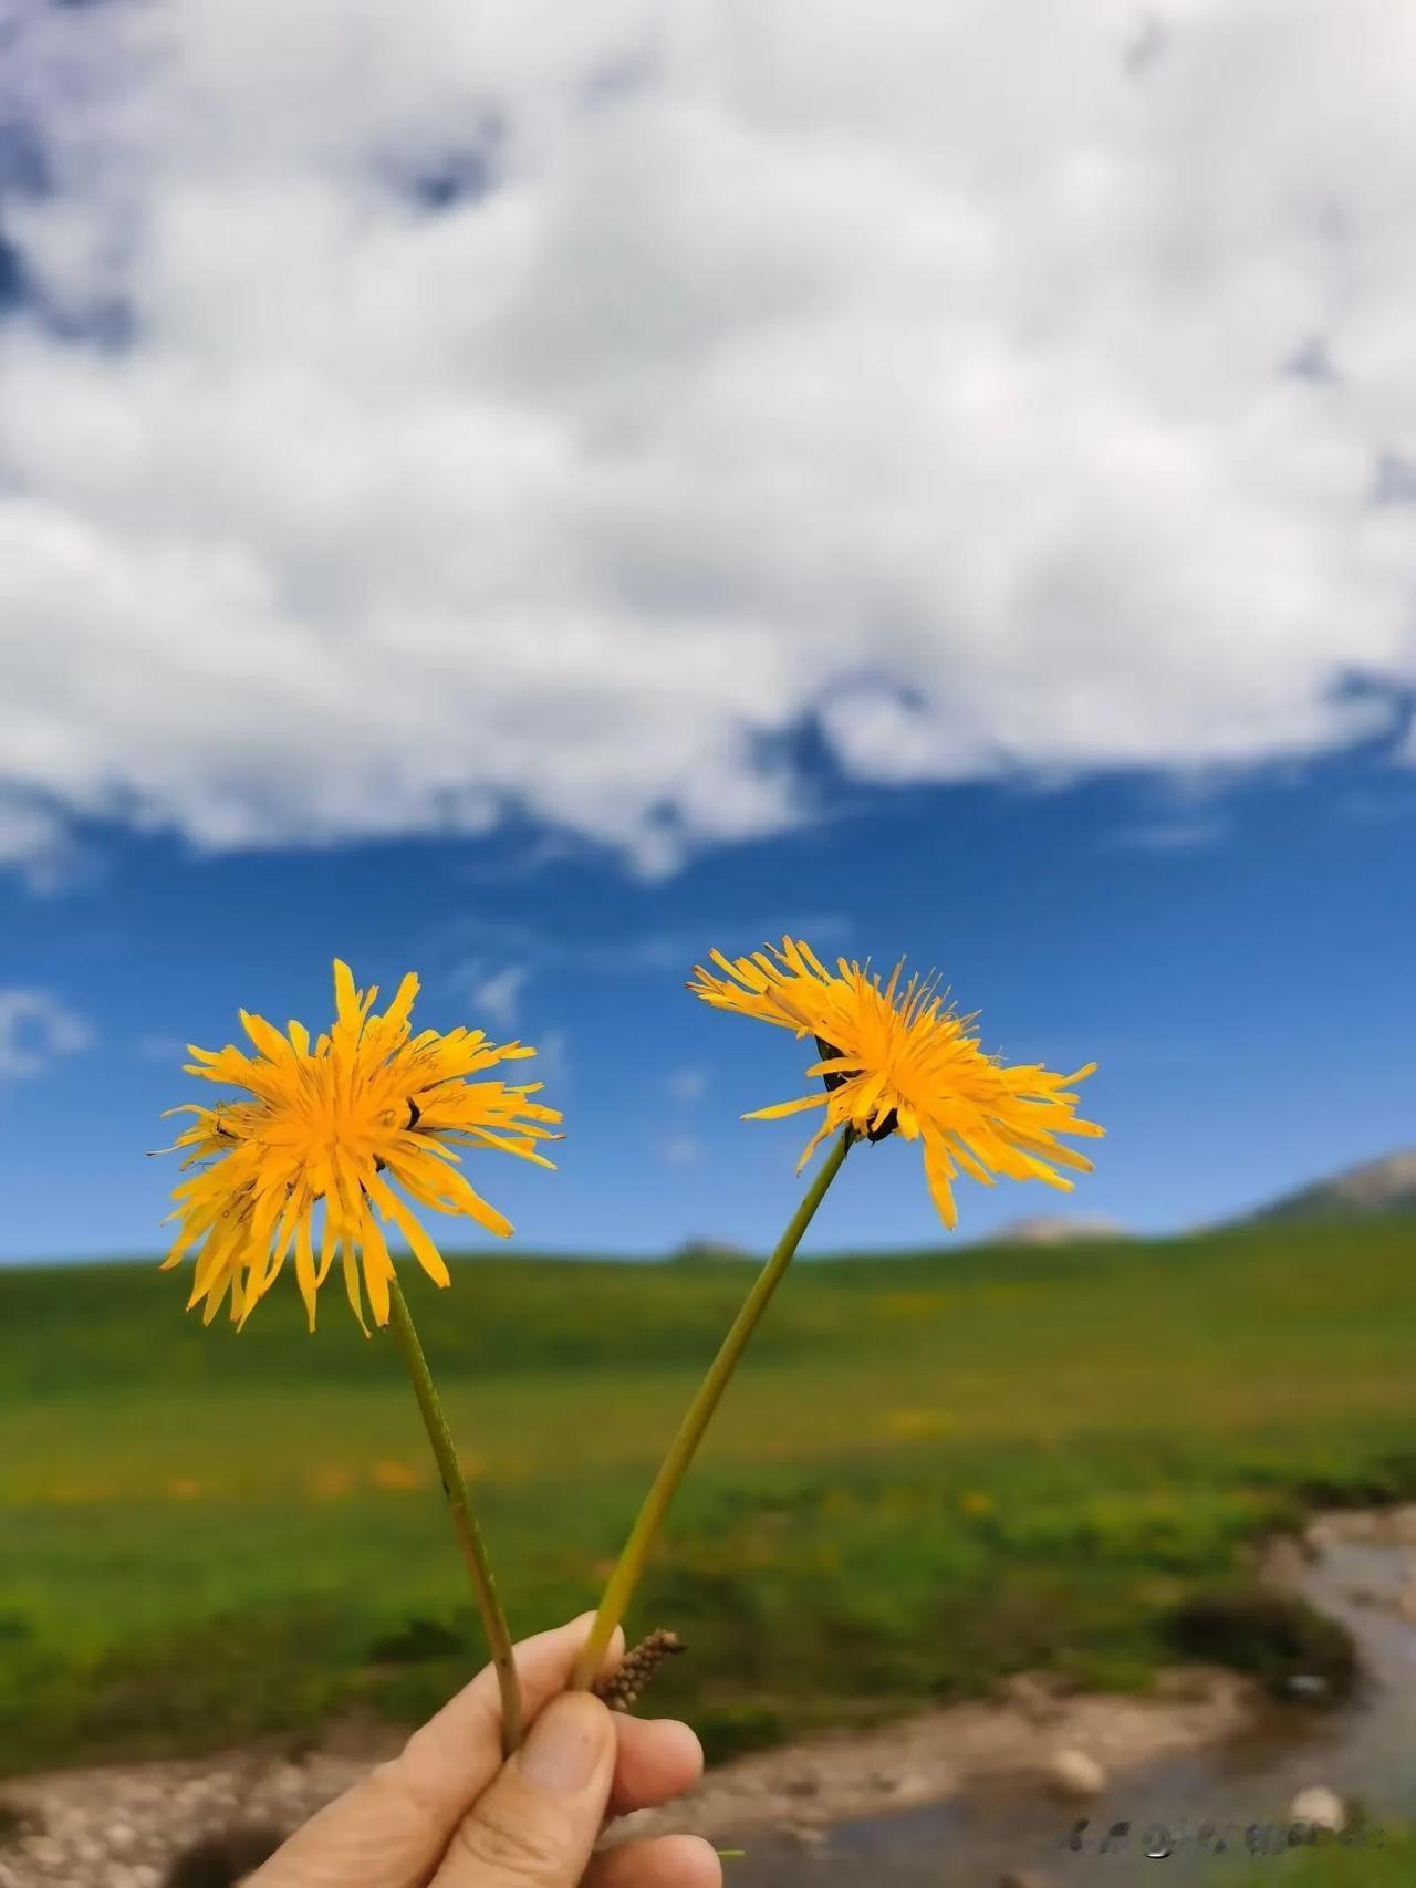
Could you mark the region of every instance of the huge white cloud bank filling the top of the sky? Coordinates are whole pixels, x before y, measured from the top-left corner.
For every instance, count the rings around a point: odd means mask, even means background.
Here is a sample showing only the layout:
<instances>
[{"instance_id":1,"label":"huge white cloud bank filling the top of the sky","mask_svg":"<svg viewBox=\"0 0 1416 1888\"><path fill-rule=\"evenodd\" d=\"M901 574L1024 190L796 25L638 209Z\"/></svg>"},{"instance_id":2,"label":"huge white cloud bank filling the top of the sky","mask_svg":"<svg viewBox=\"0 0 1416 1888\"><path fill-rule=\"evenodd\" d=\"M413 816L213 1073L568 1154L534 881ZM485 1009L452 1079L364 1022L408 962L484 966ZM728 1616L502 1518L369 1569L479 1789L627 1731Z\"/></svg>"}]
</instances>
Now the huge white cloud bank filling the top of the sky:
<instances>
[{"instance_id":1,"label":"huge white cloud bank filling the top of the sky","mask_svg":"<svg viewBox=\"0 0 1416 1888\"><path fill-rule=\"evenodd\" d=\"M9 11L0 857L512 808L666 870L804 814L812 721L1193 768L1416 682L1410 9Z\"/></svg>"}]
</instances>

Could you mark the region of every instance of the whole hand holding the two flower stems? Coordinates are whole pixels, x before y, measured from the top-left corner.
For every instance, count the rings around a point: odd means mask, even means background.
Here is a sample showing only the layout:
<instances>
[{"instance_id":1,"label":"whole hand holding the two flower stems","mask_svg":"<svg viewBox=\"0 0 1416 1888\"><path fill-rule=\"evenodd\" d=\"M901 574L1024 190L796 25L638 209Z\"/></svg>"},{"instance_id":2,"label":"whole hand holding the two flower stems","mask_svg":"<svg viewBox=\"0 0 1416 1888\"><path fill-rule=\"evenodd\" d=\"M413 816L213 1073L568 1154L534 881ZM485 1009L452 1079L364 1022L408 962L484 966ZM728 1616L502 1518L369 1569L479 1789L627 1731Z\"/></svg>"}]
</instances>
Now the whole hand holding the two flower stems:
<instances>
[{"instance_id":1,"label":"whole hand holding the two flower stems","mask_svg":"<svg viewBox=\"0 0 1416 1888\"><path fill-rule=\"evenodd\" d=\"M497 1675L466 1690L276 1850L247 1888L721 1888L697 1835L595 1852L610 1816L687 1790L687 1724L629 1718L566 1692L591 1614L515 1648L527 1737L502 1762ZM606 1671L623 1658L623 1637Z\"/></svg>"}]
</instances>

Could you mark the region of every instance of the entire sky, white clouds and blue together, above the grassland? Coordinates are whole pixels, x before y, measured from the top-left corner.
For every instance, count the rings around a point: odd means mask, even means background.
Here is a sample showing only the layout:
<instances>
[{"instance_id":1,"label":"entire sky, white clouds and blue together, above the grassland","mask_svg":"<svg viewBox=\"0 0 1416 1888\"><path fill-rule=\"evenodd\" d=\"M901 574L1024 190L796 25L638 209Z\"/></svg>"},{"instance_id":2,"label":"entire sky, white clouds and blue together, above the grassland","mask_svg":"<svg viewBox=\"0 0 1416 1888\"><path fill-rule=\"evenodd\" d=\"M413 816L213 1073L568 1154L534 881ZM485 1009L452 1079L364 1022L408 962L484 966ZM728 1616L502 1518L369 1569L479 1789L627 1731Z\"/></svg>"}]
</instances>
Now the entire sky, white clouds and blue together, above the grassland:
<instances>
[{"instance_id":1,"label":"entire sky, white clouds and blue together, above the grassland","mask_svg":"<svg viewBox=\"0 0 1416 1888\"><path fill-rule=\"evenodd\" d=\"M549 1044L534 1244L772 1229L791 1044L680 984L785 927L1095 1052L1093 1210L1416 1138L1412 72L1390 0L0 0L0 1250L149 1246L174 1044L334 952Z\"/></svg>"}]
</instances>

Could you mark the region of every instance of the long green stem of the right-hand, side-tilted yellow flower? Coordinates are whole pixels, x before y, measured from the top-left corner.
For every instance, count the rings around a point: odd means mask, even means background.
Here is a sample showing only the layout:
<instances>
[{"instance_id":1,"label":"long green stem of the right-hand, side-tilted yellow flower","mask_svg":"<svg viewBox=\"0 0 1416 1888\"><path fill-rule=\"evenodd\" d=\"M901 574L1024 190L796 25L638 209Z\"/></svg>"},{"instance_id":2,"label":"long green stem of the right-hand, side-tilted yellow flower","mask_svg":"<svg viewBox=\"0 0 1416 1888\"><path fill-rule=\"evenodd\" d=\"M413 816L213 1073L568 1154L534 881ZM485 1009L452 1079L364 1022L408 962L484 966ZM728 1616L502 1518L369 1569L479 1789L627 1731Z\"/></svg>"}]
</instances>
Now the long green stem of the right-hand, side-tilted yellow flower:
<instances>
[{"instance_id":1,"label":"long green stem of the right-hand, side-tilted yellow flower","mask_svg":"<svg viewBox=\"0 0 1416 1888\"><path fill-rule=\"evenodd\" d=\"M738 1359L748 1348L748 1339L761 1323L763 1312L767 1310L772 1293L782 1284L787 1265L791 1265L791 1257L801 1244L802 1233L812 1223L816 1208L825 1199L827 1188L840 1172L840 1163L846 1159L853 1138L855 1137L850 1127L842 1129L831 1154L821 1163L821 1172L816 1176L802 1197L801 1206L791 1216L791 1223L778 1240L772 1257L757 1274L757 1282L748 1293L742 1310L733 1320L733 1329L723 1339L717 1356L708 1367L708 1374L699 1386L699 1393L693 1403L689 1403L683 1422L678 1425L678 1435L665 1456L663 1467L653 1478L649 1493L644 1497L644 1507L634 1520L625 1550L610 1575L610 1584L600 1599L600 1610L595 1614L589 1639L580 1648L580 1658L576 1660L576 1669L570 1677L572 1690L585 1690L598 1675L600 1665L604 1663L604 1652L614 1637L614 1629L623 1620L629 1601L634 1595L634 1588L640 1582L644 1563L649 1558L649 1550L653 1548L659 1527L668 1512L668 1503L674 1499L678 1484L683 1480L695 1450L702 1441L704 1429L712 1422L714 1410L733 1378L733 1371L738 1367Z\"/></svg>"}]
</instances>

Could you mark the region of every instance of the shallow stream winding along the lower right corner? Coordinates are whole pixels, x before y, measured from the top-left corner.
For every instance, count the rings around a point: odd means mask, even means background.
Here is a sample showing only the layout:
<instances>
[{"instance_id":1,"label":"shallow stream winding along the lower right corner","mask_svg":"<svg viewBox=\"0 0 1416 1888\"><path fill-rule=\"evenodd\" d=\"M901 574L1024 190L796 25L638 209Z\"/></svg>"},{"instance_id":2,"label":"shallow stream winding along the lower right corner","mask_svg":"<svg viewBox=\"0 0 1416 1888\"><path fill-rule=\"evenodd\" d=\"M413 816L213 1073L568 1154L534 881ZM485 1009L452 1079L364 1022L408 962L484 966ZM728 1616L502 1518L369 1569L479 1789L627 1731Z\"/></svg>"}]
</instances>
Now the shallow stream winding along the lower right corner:
<instances>
[{"instance_id":1,"label":"shallow stream winding along the lower right corner","mask_svg":"<svg viewBox=\"0 0 1416 1888\"><path fill-rule=\"evenodd\" d=\"M1390 1603L1416 1578L1410 1548L1339 1541L1293 1582L1357 1644L1363 1678L1339 1707L1274 1707L1242 1739L1129 1769L1104 1795L1072 1809L1037 1780L997 1780L925 1809L842 1822L821 1848L761 1831L729 1862L731 1888L999 1888L1016 1871L1046 1888L1223 1884L1252 1867L1244 1831L1276 1852L1299 1790L1325 1784L1373 1824L1416 1818L1416 1626ZM1365 1599L1354 1595L1369 1595ZM1080 1818L1087 1826L1080 1837ZM1131 1833L1108 1831L1129 1822ZM1205 1833L1201 1839L1201 1831ZM1070 1848L1072 1839L1080 1848ZM1225 1846L1220 1848L1218 1845ZM1359 1873L1354 1873L1359 1879Z\"/></svg>"}]
</instances>

